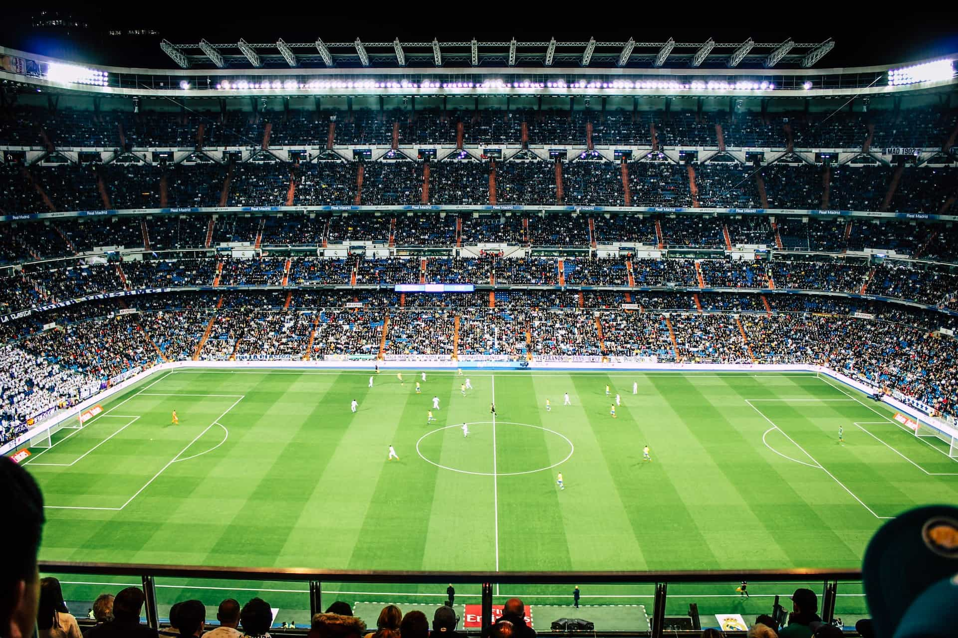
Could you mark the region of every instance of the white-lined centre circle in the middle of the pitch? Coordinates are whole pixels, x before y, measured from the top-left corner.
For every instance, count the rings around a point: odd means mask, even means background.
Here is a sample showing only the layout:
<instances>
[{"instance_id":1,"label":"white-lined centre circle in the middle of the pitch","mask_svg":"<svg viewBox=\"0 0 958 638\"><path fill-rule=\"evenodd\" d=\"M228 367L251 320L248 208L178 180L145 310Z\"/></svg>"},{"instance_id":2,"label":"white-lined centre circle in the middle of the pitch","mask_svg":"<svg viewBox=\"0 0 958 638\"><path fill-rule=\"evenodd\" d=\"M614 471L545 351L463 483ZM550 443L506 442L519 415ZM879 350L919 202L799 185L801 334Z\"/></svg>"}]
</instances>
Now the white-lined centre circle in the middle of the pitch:
<instances>
[{"instance_id":1,"label":"white-lined centre circle in the middle of the pitch","mask_svg":"<svg viewBox=\"0 0 958 638\"><path fill-rule=\"evenodd\" d=\"M554 429L543 428L542 426L533 426L528 423L515 423L513 421L468 421L466 424L468 426L468 436L462 432L463 424L457 423L451 426L445 426L443 428L433 429L431 431L423 434L419 441L416 442L416 452L420 455L423 461L435 465L437 468L442 468L443 470L448 470L450 472L458 472L463 474L477 474L480 476L515 476L518 474L531 474L536 472L545 472L546 470L552 470L553 468L565 463L572 457L573 452L576 451L575 446L572 445L565 435L559 434ZM475 426L475 428L473 428ZM503 446L499 442L498 438L502 436L501 433L497 433L496 445L499 446L493 450L492 445L492 426L496 428L506 427L513 430L508 436L512 439L511 445ZM536 431L538 430L538 431ZM521 432L521 433L520 433ZM506 466L506 470L511 470L513 463L509 460L510 450L522 449L524 439L532 436L544 436L545 441L543 442L541 438L537 441L529 441L529 445L538 446L537 451L541 451L541 448L544 446L546 449L553 450L558 447L559 454L564 454L562 460L552 465L535 468L533 470L522 470L522 471L511 471L511 472L498 472L497 469ZM430 440L431 439L431 440ZM429 458L430 454L435 455L435 451L430 450L432 443L436 439L441 439L443 451L453 457L458 457L459 460L465 461L464 463L455 463L455 465L475 465L479 466L488 465L490 472L480 471L481 467L477 467L474 470L465 470L461 467L452 467L445 463L440 463L432 458ZM550 445L550 439L553 440L553 443ZM484 447L484 444L488 447ZM567 452L566 452L567 449ZM507 458L503 459L503 456ZM448 463L448 461L446 461Z\"/></svg>"}]
</instances>

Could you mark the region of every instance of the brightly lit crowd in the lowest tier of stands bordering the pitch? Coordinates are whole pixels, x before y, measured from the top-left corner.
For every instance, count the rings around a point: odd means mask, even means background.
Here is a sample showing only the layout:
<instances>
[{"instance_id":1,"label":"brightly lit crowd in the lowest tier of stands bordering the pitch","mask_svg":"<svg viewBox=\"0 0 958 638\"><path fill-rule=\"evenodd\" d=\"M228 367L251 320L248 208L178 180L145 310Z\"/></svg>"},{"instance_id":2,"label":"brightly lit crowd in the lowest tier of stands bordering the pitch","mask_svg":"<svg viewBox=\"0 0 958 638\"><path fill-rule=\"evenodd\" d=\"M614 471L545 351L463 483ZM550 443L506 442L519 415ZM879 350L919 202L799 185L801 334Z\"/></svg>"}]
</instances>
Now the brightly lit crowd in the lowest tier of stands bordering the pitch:
<instances>
[{"instance_id":1,"label":"brightly lit crowd in the lowest tier of stands bordering the pitch","mask_svg":"<svg viewBox=\"0 0 958 638\"><path fill-rule=\"evenodd\" d=\"M37 413L72 405L121 373L164 360L375 358L380 351L450 356L456 317L460 357L621 355L747 363L754 355L759 362L825 363L956 413L958 341L931 333L958 328L958 320L930 310L771 293L509 291L494 299L485 293L444 297L301 291L288 297L287 306L285 295L270 292L167 294L137 299L130 314L101 300L85 312L57 309L19 319L3 333L5 340L26 335L4 349L4 429L12 436ZM48 321L57 328L42 330Z\"/></svg>"}]
</instances>

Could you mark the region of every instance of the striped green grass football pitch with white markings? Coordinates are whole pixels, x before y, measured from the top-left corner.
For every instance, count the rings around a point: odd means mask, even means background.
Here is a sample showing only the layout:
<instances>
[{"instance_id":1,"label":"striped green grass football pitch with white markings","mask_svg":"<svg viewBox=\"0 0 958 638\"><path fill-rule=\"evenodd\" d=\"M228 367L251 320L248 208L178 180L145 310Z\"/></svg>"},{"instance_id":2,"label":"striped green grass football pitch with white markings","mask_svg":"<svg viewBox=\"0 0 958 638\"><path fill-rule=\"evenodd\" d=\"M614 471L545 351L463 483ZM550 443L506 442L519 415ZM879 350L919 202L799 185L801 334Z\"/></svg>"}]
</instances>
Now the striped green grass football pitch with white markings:
<instances>
[{"instance_id":1,"label":"striped green grass football pitch with white markings","mask_svg":"<svg viewBox=\"0 0 958 638\"><path fill-rule=\"evenodd\" d=\"M400 385L383 371L372 388L370 373L355 370L153 375L111 398L85 428L61 430L52 448L34 449L26 467L52 506L41 559L398 570L856 568L883 517L958 502L958 462L947 448L813 374L426 374L422 382L419 371L403 371ZM472 389L463 397L467 377ZM571 406L562 405L564 392ZM622 405L613 419L616 393ZM433 396L440 409L427 423ZM391 444L399 460L387 461ZM651 462L642 460L645 444ZM136 583L61 579L75 601ZM158 584L164 605L259 592L283 610L282 620L308 615L305 583ZM706 613L763 613L772 595L793 587L754 583L742 601L734 583L675 584L669 611L684 613L694 601ZM445 598L445 586L434 585L324 590L324 601L350 603ZM552 620L568 615L545 606L569 605L565 590L502 585L497 602L520 595ZM860 587L839 592L846 595L838 615L862 612ZM583 586L582 604L650 609L651 594L651 585ZM456 602L478 603L478 587L460 587Z\"/></svg>"}]
</instances>

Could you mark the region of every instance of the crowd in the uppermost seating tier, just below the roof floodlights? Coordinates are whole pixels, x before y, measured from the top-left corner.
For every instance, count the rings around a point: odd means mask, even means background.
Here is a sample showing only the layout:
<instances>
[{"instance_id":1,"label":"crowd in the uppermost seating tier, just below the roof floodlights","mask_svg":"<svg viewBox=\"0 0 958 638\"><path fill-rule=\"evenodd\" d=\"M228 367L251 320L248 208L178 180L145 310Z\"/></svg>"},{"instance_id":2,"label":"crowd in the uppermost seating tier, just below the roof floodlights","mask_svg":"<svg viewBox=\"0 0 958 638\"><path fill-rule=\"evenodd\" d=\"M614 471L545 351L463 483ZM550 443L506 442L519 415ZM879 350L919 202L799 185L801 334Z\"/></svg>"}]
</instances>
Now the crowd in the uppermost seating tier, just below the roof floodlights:
<instances>
[{"instance_id":1,"label":"crowd in the uppermost seating tier, just below the roof floodlights","mask_svg":"<svg viewBox=\"0 0 958 638\"><path fill-rule=\"evenodd\" d=\"M56 111L18 106L0 119L0 144L42 146L41 131L58 147L118 148L172 146L194 148L262 143L270 126L271 146L326 144L390 144L394 127L398 142L454 143L458 128L463 143L519 143L528 131L530 143L584 143L592 126L596 144L648 144L651 126L658 143L715 146L719 129L726 146L781 148L788 134L797 148L860 149L874 124L873 145L941 147L954 130L953 108L900 111L797 112L729 114L724 111L536 111L529 109L441 111L436 109L349 111L289 110L260 113L196 111L192 113L101 111L61 108Z\"/></svg>"}]
</instances>

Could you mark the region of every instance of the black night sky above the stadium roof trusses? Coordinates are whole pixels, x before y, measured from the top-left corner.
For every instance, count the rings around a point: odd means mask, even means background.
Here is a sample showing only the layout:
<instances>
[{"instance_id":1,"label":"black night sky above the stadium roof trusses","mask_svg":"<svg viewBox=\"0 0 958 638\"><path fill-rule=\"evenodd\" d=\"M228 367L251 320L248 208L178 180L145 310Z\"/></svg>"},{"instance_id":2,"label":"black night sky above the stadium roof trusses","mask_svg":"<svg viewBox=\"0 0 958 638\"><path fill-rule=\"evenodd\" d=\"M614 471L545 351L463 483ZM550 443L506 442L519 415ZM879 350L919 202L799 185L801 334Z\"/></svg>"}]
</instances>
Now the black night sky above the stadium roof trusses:
<instances>
[{"instance_id":1,"label":"black night sky above the stadium roof trusses","mask_svg":"<svg viewBox=\"0 0 958 638\"><path fill-rule=\"evenodd\" d=\"M87 64L117 66L150 66L171 68L172 61L159 48L161 39L174 43L197 42L205 37L211 42L235 42L240 37L248 42L275 42L283 37L286 42L311 42L317 36L327 42L352 41L355 37L369 41L400 40L427 41L433 37L443 40L597 40L663 41L672 36L676 41L740 42L747 37L755 41L778 42L791 37L796 42L835 40L835 48L818 63L818 67L865 66L892 64L909 60L958 52L958 11L912 12L855 11L854 19L842 20L834 12L814 6L805 10L802 5L791 6L789 13L772 19L766 8L742 5L740 10L721 11L720 15L699 14L699 24L709 27L685 27L675 13L656 15L650 11L634 11L616 15L615 10L605 14L586 13L588 5L572 4L558 12L563 20L544 19L541 15L509 15L483 20L473 6L467 14L444 12L443 19L430 21L410 19L411 11L388 15L376 11L376 6L364 6L368 11L361 18L355 15L275 14L262 11L266 5L246 5L236 11L180 11L150 5L150 11L138 15L135 11L123 14L110 11L84 11L72 14L86 29L35 29L32 24L38 11L5 9L0 23L0 44L32 53L65 57ZM608 7L613 7L610 5ZM453 7L449 5L449 7ZM555 7L555 5L553 5ZM423 7L424 8L424 7ZM550 10L545 10L550 11ZM741 12L754 11L765 18L760 26L748 26ZM805 11L810 19L795 13ZM865 15L865 13L872 15ZM380 16L381 17L377 17ZM685 17L684 14L681 17ZM732 22L728 18L738 18ZM621 29L616 23L627 22L634 28ZM655 24L654 28L646 25ZM735 26L720 26L734 24ZM468 25L468 27L464 27ZM588 26L582 26L588 25ZM669 26L665 26L669 25ZM110 29L153 29L158 33L136 38L107 36Z\"/></svg>"}]
</instances>

